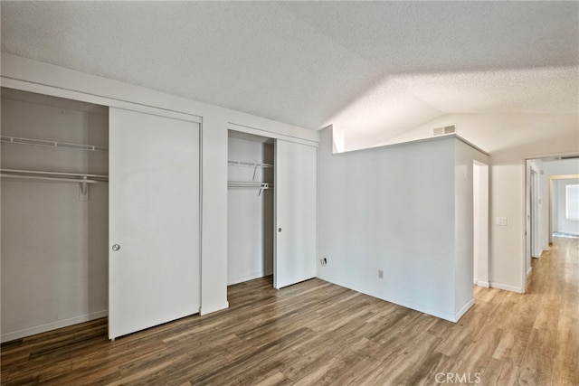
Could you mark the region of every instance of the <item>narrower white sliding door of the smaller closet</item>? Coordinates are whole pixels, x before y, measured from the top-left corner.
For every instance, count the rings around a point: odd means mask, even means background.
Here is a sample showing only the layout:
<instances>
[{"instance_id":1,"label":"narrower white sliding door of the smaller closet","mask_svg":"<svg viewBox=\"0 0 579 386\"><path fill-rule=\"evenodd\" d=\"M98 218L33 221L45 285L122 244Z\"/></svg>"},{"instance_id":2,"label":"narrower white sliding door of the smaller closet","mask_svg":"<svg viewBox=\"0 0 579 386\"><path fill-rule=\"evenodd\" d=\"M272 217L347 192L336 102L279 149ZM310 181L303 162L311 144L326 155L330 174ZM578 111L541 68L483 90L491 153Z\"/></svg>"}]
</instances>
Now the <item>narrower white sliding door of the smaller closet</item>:
<instances>
[{"instance_id":1,"label":"narrower white sliding door of the smaller closet","mask_svg":"<svg viewBox=\"0 0 579 386\"><path fill-rule=\"evenodd\" d=\"M317 147L276 141L273 287L316 277L317 175Z\"/></svg>"}]
</instances>

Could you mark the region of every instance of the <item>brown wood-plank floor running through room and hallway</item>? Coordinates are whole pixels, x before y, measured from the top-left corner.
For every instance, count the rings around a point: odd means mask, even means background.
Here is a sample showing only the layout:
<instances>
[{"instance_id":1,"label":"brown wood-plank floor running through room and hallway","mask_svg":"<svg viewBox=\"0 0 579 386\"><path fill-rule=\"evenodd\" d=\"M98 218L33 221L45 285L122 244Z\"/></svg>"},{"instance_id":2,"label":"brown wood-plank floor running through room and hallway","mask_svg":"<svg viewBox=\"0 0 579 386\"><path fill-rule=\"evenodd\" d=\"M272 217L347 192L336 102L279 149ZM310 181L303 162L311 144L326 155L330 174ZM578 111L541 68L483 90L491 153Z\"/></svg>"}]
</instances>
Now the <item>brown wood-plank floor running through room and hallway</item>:
<instances>
[{"instance_id":1,"label":"brown wood-plank floor running through room and hallway","mask_svg":"<svg viewBox=\"0 0 579 386\"><path fill-rule=\"evenodd\" d=\"M579 384L579 239L534 259L527 295L475 287L457 324L319 279L228 297L115 342L99 319L2 344L2 384Z\"/></svg>"}]
</instances>

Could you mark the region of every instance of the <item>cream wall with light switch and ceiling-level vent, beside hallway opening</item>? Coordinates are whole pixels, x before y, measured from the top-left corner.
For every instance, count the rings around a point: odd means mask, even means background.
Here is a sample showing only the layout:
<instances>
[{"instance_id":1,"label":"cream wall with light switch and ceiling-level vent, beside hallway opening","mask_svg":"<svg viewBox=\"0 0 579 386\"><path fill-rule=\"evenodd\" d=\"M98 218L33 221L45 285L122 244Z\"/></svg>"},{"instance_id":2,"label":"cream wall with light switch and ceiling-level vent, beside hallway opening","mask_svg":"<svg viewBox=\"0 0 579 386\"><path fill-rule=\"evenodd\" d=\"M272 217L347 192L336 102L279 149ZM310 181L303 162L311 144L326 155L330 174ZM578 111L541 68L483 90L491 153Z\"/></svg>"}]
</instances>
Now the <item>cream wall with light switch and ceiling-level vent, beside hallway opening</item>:
<instances>
[{"instance_id":1,"label":"cream wall with light switch and ceiling-level vent, beside hallway opening","mask_svg":"<svg viewBox=\"0 0 579 386\"><path fill-rule=\"evenodd\" d=\"M432 137L434 127L450 125L490 155L490 284L522 292L526 285L525 158L578 155L579 115L447 115L388 143ZM508 226L498 226L498 216L507 217Z\"/></svg>"}]
</instances>

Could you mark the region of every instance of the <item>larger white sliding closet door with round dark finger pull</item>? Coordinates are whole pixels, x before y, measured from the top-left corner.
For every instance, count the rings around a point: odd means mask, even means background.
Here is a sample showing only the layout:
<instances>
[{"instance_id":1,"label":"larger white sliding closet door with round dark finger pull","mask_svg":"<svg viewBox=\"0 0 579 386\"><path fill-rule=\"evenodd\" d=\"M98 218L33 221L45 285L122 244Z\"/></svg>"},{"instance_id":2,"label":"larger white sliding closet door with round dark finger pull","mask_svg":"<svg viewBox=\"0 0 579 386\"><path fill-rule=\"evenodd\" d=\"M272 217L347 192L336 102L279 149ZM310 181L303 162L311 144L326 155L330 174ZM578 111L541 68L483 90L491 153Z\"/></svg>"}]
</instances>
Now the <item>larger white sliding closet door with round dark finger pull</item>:
<instances>
[{"instance_id":1,"label":"larger white sliding closet door with round dark finger pull","mask_svg":"<svg viewBox=\"0 0 579 386\"><path fill-rule=\"evenodd\" d=\"M110 108L109 339L199 312L199 125Z\"/></svg>"}]
</instances>

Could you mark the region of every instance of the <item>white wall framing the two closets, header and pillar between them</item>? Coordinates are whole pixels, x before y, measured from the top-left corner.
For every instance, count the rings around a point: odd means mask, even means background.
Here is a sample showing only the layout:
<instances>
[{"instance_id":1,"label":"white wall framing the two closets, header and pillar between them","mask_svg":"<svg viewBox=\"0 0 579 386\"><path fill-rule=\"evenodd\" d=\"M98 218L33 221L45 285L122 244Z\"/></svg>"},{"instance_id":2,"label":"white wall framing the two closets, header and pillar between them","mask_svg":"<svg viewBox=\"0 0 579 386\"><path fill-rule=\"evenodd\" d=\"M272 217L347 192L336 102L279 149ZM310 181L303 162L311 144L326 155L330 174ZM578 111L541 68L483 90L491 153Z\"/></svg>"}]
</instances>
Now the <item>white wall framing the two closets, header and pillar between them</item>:
<instances>
[{"instance_id":1,"label":"white wall framing the two closets, header and pillar between them","mask_svg":"<svg viewBox=\"0 0 579 386\"><path fill-rule=\"evenodd\" d=\"M289 138L317 143L317 132L271 119L240 113L153 89L108 80L79 71L2 53L2 83L62 98L99 103L104 106L166 114L174 111L202 120L202 208L201 208L201 314L228 306L227 303L227 129L261 132L265 137ZM130 71L130 69L128 69ZM223 89L223 92L227 92Z\"/></svg>"}]
</instances>

